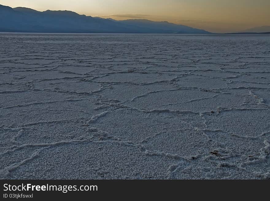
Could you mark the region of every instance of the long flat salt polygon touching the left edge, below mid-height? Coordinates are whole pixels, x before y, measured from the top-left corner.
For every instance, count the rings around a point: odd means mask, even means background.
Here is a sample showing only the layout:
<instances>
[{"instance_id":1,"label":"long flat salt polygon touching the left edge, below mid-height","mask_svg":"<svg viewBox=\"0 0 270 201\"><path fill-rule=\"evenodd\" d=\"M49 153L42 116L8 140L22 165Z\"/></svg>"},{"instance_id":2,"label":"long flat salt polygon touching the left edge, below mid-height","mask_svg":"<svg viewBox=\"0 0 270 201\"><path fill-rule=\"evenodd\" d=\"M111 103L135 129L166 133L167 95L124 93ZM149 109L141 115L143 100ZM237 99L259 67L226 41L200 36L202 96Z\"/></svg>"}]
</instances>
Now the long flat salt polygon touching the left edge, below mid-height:
<instances>
[{"instance_id":1,"label":"long flat salt polygon touching the left edge, below mid-height","mask_svg":"<svg viewBox=\"0 0 270 201\"><path fill-rule=\"evenodd\" d=\"M102 111L95 110L95 99L68 99L60 101L32 102L21 106L0 109L3 124L11 127L27 127L35 124L61 123L87 119ZM13 114L19 114L15 120Z\"/></svg>"}]
</instances>

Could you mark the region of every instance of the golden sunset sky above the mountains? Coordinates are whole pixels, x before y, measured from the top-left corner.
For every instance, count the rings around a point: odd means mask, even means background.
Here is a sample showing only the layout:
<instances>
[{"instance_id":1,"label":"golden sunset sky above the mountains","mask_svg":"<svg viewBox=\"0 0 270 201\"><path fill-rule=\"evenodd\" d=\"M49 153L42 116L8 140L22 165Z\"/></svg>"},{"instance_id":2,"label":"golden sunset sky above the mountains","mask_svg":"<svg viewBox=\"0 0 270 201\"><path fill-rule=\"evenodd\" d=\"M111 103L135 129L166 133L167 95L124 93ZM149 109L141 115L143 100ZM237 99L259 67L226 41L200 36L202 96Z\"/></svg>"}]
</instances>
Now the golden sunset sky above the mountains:
<instances>
[{"instance_id":1,"label":"golden sunset sky above the mountains","mask_svg":"<svg viewBox=\"0 0 270 201\"><path fill-rule=\"evenodd\" d=\"M216 33L270 25L270 0L0 0L0 4L116 20L169 21Z\"/></svg>"}]
</instances>

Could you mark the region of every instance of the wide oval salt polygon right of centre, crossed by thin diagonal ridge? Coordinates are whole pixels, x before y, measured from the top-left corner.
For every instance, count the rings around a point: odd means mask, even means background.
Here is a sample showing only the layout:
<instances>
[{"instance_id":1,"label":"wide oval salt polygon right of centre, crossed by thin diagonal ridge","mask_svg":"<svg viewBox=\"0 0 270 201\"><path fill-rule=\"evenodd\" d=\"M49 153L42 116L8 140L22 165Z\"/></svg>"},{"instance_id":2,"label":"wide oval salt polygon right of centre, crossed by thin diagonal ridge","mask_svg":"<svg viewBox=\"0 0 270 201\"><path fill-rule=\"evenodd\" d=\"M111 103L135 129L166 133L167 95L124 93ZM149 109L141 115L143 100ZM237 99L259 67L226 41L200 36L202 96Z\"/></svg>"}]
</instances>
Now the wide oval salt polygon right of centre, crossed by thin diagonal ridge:
<instances>
[{"instance_id":1,"label":"wide oval salt polygon right of centre, crossed by thin diagonal ridge","mask_svg":"<svg viewBox=\"0 0 270 201\"><path fill-rule=\"evenodd\" d=\"M166 102L170 97L170 102ZM226 100L226 101L225 101ZM165 91L152 91L139 95L126 102L125 105L137 108L169 109L169 110L191 110L193 112L212 111L219 107L231 108L242 107L243 104L258 103L248 95L235 96L217 91L203 91L195 89L176 89Z\"/></svg>"}]
</instances>

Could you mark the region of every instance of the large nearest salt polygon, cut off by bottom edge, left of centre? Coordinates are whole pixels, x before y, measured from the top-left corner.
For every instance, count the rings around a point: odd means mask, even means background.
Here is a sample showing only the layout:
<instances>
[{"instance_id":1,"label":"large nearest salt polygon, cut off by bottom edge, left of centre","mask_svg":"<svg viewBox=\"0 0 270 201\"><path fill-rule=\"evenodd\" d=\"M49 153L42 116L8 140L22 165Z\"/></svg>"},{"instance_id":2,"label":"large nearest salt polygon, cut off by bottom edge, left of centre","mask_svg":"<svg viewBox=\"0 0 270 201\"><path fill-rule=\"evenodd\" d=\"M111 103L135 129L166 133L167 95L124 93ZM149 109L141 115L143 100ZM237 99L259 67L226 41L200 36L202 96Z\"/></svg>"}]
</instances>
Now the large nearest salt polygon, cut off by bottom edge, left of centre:
<instances>
[{"instance_id":1,"label":"large nearest salt polygon, cut off by bottom edge, left of centre","mask_svg":"<svg viewBox=\"0 0 270 201\"><path fill-rule=\"evenodd\" d=\"M71 161L76 163L70 165ZM70 143L40 150L39 157L21 164L6 177L165 179L168 164L174 162L169 157L149 157L137 147L115 142Z\"/></svg>"}]
</instances>

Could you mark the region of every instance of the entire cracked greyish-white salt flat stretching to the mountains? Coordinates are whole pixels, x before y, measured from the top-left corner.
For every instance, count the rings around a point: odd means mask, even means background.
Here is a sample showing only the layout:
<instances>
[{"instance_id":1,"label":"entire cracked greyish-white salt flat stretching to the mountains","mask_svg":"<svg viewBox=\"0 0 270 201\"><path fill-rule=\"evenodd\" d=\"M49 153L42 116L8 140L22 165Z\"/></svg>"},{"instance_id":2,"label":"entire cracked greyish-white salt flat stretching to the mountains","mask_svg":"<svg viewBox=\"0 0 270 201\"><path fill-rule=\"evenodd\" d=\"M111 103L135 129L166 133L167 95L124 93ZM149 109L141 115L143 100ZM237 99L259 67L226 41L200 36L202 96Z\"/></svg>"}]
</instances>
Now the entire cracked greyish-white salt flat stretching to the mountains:
<instances>
[{"instance_id":1,"label":"entire cracked greyish-white salt flat stretching to the mountains","mask_svg":"<svg viewBox=\"0 0 270 201\"><path fill-rule=\"evenodd\" d=\"M0 46L2 179L270 178L269 35Z\"/></svg>"}]
</instances>

